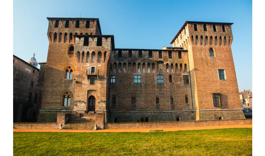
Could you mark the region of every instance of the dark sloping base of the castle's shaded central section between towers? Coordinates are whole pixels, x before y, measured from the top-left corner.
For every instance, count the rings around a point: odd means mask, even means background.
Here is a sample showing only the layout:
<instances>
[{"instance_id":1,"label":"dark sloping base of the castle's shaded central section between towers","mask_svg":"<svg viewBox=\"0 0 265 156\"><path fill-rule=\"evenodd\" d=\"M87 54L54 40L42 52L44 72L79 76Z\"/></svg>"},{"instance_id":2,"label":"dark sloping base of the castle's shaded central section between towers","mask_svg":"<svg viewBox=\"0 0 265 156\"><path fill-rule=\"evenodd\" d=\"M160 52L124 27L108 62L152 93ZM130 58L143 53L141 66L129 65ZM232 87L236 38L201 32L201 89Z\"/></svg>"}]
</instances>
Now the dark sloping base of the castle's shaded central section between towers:
<instances>
[{"instance_id":1,"label":"dark sloping base of the castle's shaded central section between towers","mask_svg":"<svg viewBox=\"0 0 265 156\"><path fill-rule=\"evenodd\" d=\"M196 119L196 113L192 111L165 111L165 112L108 112L108 122L113 122L117 118L118 122L140 122L141 118L149 118L150 122L192 121Z\"/></svg>"}]
</instances>

